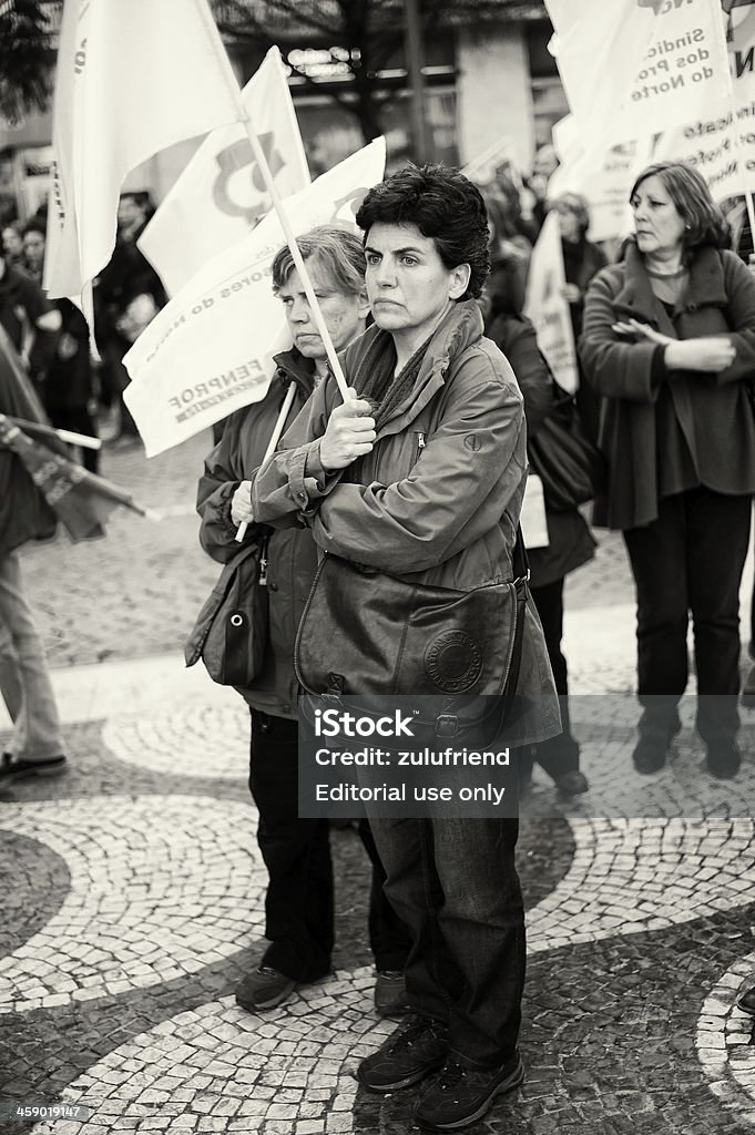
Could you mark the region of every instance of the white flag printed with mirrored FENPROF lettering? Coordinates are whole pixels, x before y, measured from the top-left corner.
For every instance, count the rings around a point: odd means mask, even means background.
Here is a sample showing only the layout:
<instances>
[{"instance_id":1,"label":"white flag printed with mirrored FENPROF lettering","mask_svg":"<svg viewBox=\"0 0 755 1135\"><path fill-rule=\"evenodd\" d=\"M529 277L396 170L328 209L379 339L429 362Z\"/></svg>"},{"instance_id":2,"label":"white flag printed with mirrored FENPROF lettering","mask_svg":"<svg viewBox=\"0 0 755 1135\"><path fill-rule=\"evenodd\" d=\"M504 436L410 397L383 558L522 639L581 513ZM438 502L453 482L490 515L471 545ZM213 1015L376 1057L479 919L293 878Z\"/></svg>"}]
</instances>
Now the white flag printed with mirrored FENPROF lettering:
<instances>
[{"instance_id":1,"label":"white flag printed with mirrored FENPROF lettering","mask_svg":"<svg viewBox=\"0 0 755 1135\"><path fill-rule=\"evenodd\" d=\"M385 141L377 138L288 197L294 233L353 224L384 169ZM132 382L124 401L148 457L265 397L271 356L290 342L270 283L272 258L285 243L276 213L268 213L242 242L207 263L125 356Z\"/></svg>"}]
</instances>

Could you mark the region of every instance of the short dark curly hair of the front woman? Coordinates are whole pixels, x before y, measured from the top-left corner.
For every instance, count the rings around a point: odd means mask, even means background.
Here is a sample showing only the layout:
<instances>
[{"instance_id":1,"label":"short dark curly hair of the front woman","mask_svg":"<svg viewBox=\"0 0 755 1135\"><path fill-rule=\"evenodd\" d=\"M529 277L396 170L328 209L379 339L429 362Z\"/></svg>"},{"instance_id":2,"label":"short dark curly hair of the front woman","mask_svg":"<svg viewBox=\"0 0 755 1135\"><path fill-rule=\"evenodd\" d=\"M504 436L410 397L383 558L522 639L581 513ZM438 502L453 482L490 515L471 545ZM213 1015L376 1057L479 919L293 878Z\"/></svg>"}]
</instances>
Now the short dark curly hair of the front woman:
<instances>
[{"instance_id":1,"label":"short dark curly hair of the front woman","mask_svg":"<svg viewBox=\"0 0 755 1135\"><path fill-rule=\"evenodd\" d=\"M480 191L458 169L405 166L368 192L356 224L366 236L372 225L417 225L435 242L446 269L469 264L461 299L480 295L490 271L487 211Z\"/></svg>"}]
</instances>

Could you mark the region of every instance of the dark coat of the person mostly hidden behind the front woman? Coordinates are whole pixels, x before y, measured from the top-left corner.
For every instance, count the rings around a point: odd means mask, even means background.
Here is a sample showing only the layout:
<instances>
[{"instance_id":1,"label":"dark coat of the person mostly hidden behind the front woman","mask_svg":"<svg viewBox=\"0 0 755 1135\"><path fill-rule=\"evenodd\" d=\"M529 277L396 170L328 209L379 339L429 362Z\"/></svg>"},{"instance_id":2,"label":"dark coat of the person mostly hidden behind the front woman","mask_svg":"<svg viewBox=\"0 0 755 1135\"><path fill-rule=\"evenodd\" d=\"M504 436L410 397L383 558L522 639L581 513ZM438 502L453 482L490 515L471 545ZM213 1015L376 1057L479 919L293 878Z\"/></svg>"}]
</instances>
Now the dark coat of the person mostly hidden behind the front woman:
<instances>
[{"instance_id":1,"label":"dark coat of the person mostly hidden behind the front woman","mask_svg":"<svg viewBox=\"0 0 755 1135\"><path fill-rule=\"evenodd\" d=\"M511 363L525 396L527 436L534 437L553 405L554 387L551 370L537 345L535 328L523 316L498 316L487 330ZM546 587L568 572L592 560L595 540L578 508L568 512L545 510L548 544L543 548L528 548L530 582L534 588Z\"/></svg>"}]
</instances>

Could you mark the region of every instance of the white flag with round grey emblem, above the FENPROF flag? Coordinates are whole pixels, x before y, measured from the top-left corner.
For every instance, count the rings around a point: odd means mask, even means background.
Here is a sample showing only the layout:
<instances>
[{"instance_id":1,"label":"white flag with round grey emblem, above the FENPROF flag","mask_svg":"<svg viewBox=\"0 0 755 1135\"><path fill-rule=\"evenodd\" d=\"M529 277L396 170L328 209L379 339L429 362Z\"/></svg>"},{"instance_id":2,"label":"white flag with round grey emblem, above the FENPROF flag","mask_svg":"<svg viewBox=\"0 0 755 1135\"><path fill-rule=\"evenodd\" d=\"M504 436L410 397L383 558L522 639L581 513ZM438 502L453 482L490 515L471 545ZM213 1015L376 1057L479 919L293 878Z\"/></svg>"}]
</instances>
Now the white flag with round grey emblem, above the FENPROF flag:
<instances>
[{"instance_id":1,"label":"white flag with round grey emblem, above the FENPROF flag","mask_svg":"<svg viewBox=\"0 0 755 1135\"><path fill-rule=\"evenodd\" d=\"M243 91L244 106L282 197L309 185L310 176L288 83L277 48ZM245 129L213 131L199 148L139 239L168 295L199 269L241 241L270 209Z\"/></svg>"}]
</instances>

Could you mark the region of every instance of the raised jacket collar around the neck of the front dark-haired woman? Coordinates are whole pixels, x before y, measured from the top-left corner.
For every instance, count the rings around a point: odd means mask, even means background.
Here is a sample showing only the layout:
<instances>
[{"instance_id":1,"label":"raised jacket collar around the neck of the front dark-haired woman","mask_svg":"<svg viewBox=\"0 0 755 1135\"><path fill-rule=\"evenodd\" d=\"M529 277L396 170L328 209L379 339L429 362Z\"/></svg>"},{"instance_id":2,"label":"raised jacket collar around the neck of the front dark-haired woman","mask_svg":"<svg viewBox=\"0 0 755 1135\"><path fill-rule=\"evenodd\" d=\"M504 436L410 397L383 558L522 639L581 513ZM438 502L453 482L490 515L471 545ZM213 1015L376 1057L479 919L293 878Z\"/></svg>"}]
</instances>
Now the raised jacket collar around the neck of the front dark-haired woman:
<instances>
[{"instance_id":1,"label":"raised jacket collar around the neck of the front dark-haired woman","mask_svg":"<svg viewBox=\"0 0 755 1135\"><path fill-rule=\"evenodd\" d=\"M364 358L366 352L378 336L388 336L374 325L346 351L346 373L353 375ZM443 386L446 371L467 347L476 343L483 335L483 316L475 300L463 300L455 303L435 329L417 381L406 398L396 406L395 413L380 429L380 437L399 434L409 422L425 409L433 395Z\"/></svg>"}]
</instances>

